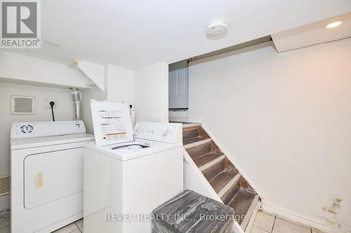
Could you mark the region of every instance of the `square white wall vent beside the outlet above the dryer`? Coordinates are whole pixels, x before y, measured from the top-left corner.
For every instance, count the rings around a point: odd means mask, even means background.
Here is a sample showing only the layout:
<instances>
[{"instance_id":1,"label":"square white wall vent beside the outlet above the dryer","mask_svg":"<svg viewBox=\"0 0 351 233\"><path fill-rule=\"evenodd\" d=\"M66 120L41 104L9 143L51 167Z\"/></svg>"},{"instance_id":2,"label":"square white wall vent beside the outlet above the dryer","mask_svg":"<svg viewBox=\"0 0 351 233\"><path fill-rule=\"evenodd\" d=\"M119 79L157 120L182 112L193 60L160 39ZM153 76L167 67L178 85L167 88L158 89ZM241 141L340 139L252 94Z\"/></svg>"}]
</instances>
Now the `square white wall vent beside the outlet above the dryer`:
<instances>
[{"instance_id":1,"label":"square white wall vent beside the outlet above the dryer","mask_svg":"<svg viewBox=\"0 0 351 233\"><path fill-rule=\"evenodd\" d=\"M11 97L11 114L34 114L35 97Z\"/></svg>"}]
</instances>

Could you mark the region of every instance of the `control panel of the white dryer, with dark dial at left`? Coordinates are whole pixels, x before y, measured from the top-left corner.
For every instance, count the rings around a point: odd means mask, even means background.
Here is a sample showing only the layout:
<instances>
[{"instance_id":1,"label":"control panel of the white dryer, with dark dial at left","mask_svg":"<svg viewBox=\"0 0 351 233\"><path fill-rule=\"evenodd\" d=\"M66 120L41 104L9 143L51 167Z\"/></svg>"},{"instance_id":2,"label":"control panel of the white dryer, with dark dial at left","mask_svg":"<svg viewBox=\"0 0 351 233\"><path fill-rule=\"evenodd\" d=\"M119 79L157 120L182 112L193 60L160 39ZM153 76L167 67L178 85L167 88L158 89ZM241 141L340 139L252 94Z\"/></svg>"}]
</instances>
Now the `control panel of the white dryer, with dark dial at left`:
<instances>
[{"instance_id":1,"label":"control panel of the white dryer, with dark dial at left","mask_svg":"<svg viewBox=\"0 0 351 233\"><path fill-rule=\"evenodd\" d=\"M18 122L11 126L11 139L25 139L38 136L85 134L86 127L81 120L55 122Z\"/></svg>"}]
</instances>

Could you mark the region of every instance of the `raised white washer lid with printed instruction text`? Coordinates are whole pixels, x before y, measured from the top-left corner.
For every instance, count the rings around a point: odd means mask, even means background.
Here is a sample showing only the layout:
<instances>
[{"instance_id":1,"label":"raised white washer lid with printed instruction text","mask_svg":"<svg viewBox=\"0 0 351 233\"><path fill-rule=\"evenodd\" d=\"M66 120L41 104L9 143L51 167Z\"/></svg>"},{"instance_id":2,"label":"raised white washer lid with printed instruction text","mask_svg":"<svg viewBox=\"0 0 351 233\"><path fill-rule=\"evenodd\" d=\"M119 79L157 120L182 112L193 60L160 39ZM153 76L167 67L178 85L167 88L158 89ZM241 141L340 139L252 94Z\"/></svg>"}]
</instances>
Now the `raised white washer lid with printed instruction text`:
<instances>
[{"instance_id":1,"label":"raised white washer lid with printed instruction text","mask_svg":"<svg viewBox=\"0 0 351 233\"><path fill-rule=\"evenodd\" d=\"M95 99L90 102L96 144L110 145L134 140L129 105L126 102Z\"/></svg>"}]
</instances>

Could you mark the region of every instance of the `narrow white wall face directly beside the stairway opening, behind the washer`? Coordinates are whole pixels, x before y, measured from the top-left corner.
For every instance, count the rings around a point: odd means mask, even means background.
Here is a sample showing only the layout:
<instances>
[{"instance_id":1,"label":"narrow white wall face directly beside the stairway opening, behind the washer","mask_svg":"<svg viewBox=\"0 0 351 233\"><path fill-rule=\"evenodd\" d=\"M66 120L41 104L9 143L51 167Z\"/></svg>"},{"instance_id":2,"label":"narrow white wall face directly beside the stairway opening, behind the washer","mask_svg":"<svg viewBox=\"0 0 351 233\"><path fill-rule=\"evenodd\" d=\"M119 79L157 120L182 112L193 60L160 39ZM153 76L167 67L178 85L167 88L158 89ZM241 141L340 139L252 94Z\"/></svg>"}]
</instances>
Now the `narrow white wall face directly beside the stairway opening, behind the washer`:
<instances>
[{"instance_id":1,"label":"narrow white wall face directly beside the stairway opening, behind the washer","mask_svg":"<svg viewBox=\"0 0 351 233\"><path fill-rule=\"evenodd\" d=\"M168 122L168 64L135 70L134 81L136 121Z\"/></svg>"}]
</instances>

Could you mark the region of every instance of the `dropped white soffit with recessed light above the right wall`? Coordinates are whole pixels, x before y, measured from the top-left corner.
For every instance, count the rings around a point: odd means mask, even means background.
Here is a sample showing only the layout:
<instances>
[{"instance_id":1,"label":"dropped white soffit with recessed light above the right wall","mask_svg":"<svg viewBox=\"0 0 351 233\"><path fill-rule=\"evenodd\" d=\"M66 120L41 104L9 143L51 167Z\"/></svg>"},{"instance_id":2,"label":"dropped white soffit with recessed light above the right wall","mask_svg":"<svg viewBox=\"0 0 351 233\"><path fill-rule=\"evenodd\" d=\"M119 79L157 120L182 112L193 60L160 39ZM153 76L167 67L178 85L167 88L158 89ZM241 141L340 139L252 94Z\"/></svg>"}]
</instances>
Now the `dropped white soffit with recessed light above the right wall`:
<instances>
[{"instance_id":1,"label":"dropped white soffit with recessed light above the right wall","mask_svg":"<svg viewBox=\"0 0 351 233\"><path fill-rule=\"evenodd\" d=\"M343 22L340 26L331 29L325 28L326 24L340 20ZM272 34L274 45L278 52L336 41L347 37L351 37L351 12Z\"/></svg>"}]
</instances>

